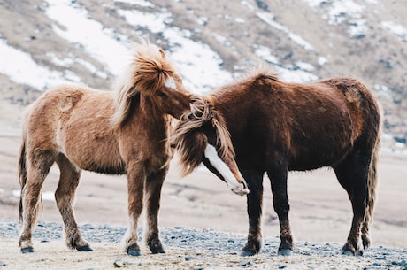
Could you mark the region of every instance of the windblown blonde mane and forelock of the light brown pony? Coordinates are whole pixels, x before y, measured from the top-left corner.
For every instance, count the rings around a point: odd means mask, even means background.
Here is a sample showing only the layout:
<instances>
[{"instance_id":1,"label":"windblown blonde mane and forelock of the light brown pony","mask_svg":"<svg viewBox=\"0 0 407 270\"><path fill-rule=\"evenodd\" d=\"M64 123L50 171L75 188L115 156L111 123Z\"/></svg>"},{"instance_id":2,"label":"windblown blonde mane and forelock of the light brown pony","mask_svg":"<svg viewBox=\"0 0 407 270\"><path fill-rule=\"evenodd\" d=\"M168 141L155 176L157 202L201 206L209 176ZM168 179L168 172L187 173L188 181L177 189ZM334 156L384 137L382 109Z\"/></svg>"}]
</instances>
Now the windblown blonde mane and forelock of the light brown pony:
<instances>
[{"instance_id":1,"label":"windblown blonde mane and forelock of the light brown pony","mask_svg":"<svg viewBox=\"0 0 407 270\"><path fill-rule=\"evenodd\" d=\"M164 50L140 38L133 44L134 59L113 84L115 112L111 122L120 127L130 113L131 102L139 94L150 95L163 88L165 80L176 75Z\"/></svg>"}]
</instances>

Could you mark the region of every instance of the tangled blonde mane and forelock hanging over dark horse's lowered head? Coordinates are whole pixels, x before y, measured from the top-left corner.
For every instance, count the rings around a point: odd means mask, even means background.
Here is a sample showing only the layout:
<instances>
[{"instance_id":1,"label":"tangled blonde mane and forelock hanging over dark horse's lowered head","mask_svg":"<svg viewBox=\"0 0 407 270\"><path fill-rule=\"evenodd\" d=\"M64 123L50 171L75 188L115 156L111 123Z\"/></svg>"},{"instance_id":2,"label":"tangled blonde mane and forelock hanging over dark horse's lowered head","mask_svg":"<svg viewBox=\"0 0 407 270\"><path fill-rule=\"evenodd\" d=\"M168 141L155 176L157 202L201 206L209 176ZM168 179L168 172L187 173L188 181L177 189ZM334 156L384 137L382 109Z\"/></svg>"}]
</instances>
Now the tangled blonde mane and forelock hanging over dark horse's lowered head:
<instances>
[{"instance_id":1,"label":"tangled blonde mane and forelock hanging over dark horse's lowered head","mask_svg":"<svg viewBox=\"0 0 407 270\"><path fill-rule=\"evenodd\" d=\"M191 112L185 113L178 121L171 137L173 145L180 154L182 175L188 175L203 160L200 153L206 148L207 139L198 131L199 127L210 122L216 128L217 149L222 159L234 157L234 147L223 117L213 109L210 101L202 96L191 98Z\"/></svg>"}]
</instances>

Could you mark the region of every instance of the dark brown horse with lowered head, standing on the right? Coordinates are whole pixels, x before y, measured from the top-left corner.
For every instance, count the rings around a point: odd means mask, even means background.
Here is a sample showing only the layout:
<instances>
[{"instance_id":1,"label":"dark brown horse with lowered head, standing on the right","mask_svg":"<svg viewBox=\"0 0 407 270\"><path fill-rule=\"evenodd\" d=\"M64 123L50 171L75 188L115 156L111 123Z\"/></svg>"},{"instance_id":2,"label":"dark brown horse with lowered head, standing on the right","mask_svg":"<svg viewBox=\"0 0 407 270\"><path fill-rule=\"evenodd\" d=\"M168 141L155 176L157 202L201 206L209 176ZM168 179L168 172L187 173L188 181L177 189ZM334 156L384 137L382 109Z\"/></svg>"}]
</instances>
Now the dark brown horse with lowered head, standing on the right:
<instances>
[{"instance_id":1,"label":"dark brown horse with lowered head, standing on the right","mask_svg":"<svg viewBox=\"0 0 407 270\"><path fill-rule=\"evenodd\" d=\"M288 221L288 171L323 166L334 169L352 204L354 216L342 252L361 255L363 248L369 246L381 111L362 83L349 78L287 83L263 66L194 103L195 113L183 116L173 143L180 150L180 157L201 157L222 178L202 152L207 142L213 144L217 138L219 146L224 144L217 133L219 126L227 127L235 159L250 189L249 235L242 255L256 254L261 247L265 172L271 181L273 206L280 220L278 253L290 255L294 244ZM226 149L233 156L233 148ZM182 162L189 166L198 164L188 158Z\"/></svg>"}]
</instances>

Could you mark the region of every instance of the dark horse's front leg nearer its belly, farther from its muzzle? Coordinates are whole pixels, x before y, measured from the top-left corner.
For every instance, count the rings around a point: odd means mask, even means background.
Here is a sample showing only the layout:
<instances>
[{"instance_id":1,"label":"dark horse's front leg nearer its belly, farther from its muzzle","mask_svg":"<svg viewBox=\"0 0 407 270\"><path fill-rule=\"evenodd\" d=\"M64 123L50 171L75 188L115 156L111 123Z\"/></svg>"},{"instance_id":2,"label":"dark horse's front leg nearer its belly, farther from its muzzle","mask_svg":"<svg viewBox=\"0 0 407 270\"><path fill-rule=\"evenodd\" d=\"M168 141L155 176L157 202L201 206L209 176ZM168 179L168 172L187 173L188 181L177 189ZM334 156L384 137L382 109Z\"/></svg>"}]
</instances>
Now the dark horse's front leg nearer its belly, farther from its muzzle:
<instances>
[{"instance_id":1,"label":"dark horse's front leg nearer its belly, farther from its muzzle","mask_svg":"<svg viewBox=\"0 0 407 270\"><path fill-rule=\"evenodd\" d=\"M267 175L270 178L272 184L274 211L277 212L280 221L281 243L279 246L278 254L289 256L293 254L294 243L288 220L288 170L285 169L285 166L275 166L273 170L267 171Z\"/></svg>"}]
</instances>

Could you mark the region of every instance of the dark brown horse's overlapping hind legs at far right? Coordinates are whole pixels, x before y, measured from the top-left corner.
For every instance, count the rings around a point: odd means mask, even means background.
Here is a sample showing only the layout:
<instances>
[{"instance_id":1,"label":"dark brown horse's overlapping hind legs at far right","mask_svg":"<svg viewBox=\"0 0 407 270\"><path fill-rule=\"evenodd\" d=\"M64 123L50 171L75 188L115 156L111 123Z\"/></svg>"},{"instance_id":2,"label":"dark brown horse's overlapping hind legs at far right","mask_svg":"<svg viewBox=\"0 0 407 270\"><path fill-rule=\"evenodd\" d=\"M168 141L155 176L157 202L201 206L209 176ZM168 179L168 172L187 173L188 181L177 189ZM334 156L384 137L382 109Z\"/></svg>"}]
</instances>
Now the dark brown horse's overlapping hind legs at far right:
<instances>
[{"instance_id":1,"label":"dark brown horse's overlapping hind legs at far right","mask_svg":"<svg viewBox=\"0 0 407 270\"><path fill-rule=\"evenodd\" d=\"M349 154L342 163L334 167L334 172L342 187L349 195L353 210L353 220L347 242L342 247L343 254L362 255L361 228L365 221L368 200L368 172L370 158L360 152Z\"/></svg>"}]
</instances>

